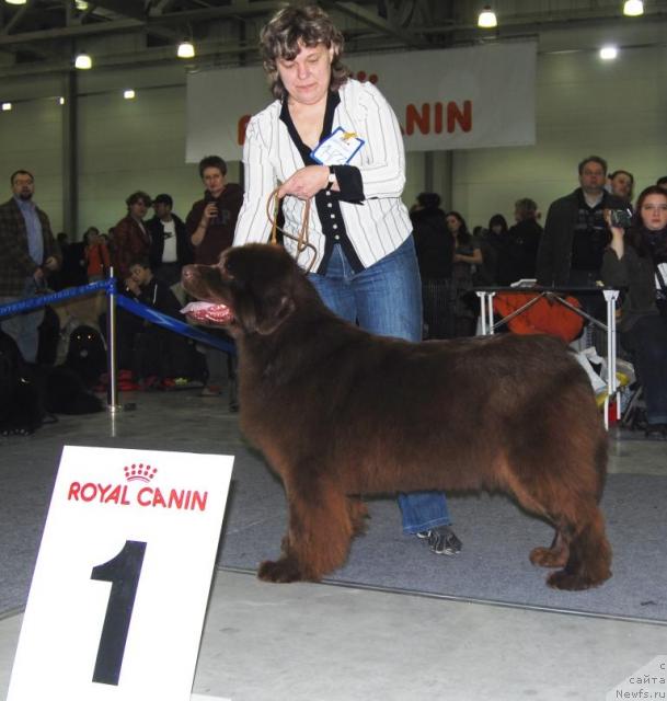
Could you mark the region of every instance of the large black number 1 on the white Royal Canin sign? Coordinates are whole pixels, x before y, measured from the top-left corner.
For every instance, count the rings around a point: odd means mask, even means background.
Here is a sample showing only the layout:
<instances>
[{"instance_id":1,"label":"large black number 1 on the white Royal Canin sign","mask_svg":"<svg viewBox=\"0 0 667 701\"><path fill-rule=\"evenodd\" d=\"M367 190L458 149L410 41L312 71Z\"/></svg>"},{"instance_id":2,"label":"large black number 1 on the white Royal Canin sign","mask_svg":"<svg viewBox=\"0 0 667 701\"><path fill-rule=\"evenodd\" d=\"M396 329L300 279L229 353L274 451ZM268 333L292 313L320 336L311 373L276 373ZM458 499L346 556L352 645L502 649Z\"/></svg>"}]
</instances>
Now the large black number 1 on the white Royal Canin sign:
<instances>
[{"instance_id":1,"label":"large black number 1 on the white Royal Canin sign","mask_svg":"<svg viewBox=\"0 0 667 701\"><path fill-rule=\"evenodd\" d=\"M91 579L112 583L93 673L97 683L118 685L145 552L145 542L126 540L115 558L93 567L90 575Z\"/></svg>"}]
</instances>

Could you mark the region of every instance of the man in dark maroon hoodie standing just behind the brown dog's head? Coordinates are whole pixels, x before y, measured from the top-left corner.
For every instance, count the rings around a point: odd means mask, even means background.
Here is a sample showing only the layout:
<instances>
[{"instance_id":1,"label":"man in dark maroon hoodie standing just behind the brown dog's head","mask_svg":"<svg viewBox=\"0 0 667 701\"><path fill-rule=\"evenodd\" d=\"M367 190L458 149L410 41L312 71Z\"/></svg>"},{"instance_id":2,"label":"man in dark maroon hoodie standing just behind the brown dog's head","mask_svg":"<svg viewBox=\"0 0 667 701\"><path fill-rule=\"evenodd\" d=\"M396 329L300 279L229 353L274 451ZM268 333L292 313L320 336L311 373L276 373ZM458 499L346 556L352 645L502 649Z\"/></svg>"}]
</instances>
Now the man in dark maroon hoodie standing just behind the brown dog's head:
<instances>
[{"instance_id":1,"label":"man in dark maroon hoodie standing just behind the brown dog's head","mask_svg":"<svg viewBox=\"0 0 667 701\"><path fill-rule=\"evenodd\" d=\"M199 177L206 188L204 198L192 206L185 227L194 246L195 263L214 265L220 253L232 244L243 191L237 183L227 182L227 163L219 156L207 156L199 161ZM216 397L222 391L227 359L210 346L205 346L205 354L208 379L202 394Z\"/></svg>"}]
</instances>

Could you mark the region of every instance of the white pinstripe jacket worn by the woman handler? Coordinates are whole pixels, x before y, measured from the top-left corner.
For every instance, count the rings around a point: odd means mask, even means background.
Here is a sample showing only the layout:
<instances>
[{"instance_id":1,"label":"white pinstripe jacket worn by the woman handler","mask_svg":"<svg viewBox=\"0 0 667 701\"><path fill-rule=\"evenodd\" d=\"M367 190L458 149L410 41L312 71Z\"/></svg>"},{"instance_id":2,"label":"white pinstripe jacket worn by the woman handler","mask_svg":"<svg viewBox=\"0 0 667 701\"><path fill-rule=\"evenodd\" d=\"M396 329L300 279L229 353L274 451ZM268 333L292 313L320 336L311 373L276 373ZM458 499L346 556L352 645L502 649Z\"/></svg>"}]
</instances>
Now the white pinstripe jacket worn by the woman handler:
<instances>
[{"instance_id":1,"label":"white pinstripe jacket worn by the woman handler","mask_svg":"<svg viewBox=\"0 0 667 701\"><path fill-rule=\"evenodd\" d=\"M355 131L366 143L350 165L358 169L364 188L361 202L338 196L345 232L360 264L368 267L395 251L410 235L412 225L401 200L405 184L405 153L398 119L387 100L371 83L348 80L340 90L332 130L341 126ZM266 200L278 182L303 168L303 158L280 119L281 102L275 101L250 120L243 148L245 196L239 214L234 245L268 239ZM285 230L297 234L304 203L288 196L283 203ZM318 269L325 249L325 237L318 208L310 210L309 240L318 250ZM285 241L296 255L296 244ZM306 267L308 251L299 258Z\"/></svg>"}]
</instances>

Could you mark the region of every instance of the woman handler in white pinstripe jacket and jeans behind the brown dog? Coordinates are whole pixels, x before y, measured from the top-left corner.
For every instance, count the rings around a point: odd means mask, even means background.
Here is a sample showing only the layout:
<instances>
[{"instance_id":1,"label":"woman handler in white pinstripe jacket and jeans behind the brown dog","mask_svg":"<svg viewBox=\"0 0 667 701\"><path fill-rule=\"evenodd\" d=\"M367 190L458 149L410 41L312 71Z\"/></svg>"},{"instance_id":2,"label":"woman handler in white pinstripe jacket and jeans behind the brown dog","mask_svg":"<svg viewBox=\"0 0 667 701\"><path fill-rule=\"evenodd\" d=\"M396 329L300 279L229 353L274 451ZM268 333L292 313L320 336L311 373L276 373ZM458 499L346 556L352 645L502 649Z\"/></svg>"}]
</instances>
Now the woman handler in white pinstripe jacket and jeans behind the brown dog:
<instances>
[{"instance_id":1,"label":"woman handler in white pinstripe jacket and jeans behind the brown dog","mask_svg":"<svg viewBox=\"0 0 667 701\"><path fill-rule=\"evenodd\" d=\"M371 82L349 78L343 34L317 5L278 11L260 42L276 100L248 125L246 188L234 244L268 239L266 202L278 183L284 229L292 237L312 198L310 261L298 255L290 238L285 245L312 267L310 279L324 303L370 332L419 341L419 271L401 200L405 157L393 111ZM342 126L343 139L358 133L363 151L349 153L349 162L324 156L322 164L312 149L334 125ZM439 554L460 549L442 495L401 495L400 504L404 532L421 533Z\"/></svg>"}]
</instances>

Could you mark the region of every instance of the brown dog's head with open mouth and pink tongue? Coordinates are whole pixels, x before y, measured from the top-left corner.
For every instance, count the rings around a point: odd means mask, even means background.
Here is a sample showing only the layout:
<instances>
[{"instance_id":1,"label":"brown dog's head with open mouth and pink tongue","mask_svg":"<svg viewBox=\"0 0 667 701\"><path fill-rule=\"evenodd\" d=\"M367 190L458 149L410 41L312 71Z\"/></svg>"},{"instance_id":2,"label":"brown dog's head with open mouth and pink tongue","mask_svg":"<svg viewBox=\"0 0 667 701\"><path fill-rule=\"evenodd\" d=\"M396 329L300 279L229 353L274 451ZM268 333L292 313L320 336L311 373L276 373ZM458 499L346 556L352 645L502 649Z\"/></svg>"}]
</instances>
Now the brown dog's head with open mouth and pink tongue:
<instances>
[{"instance_id":1,"label":"brown dog's head with open mouth and pink tongue","mask_svg":"<svg viewBox=\"0 0 667 701\"><path fill-rule=\"evenodd\" d=\"M186 265L182 283L206 302L188 304L188 315L225 325L232 335L268 335L292 314L300 297L317 296L281 246L261 243L228 249L218 265Z\"/></svg>"}]
</instances>

